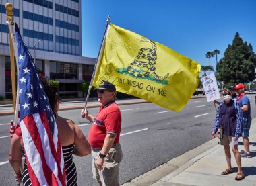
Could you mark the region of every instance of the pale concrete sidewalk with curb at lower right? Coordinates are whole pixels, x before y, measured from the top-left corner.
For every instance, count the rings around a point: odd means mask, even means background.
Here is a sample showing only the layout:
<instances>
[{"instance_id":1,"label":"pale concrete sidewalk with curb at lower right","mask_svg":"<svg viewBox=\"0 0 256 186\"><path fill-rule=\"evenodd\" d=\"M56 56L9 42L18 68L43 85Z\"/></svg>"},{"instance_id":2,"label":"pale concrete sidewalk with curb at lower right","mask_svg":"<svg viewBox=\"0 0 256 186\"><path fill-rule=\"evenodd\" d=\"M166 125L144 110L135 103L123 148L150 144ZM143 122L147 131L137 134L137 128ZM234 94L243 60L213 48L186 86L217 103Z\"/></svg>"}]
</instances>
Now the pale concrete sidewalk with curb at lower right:
<instances>
[{"instance_id":1,"label":"pale concrete sidewalk with curb at lower right","mask_svg":"<svg viewBox=\"0 0 256 186\"><path fill-rule=\"evenodd\" d=\"M220 175L226 167L226 158L223 146L218 144L218 138L214 138L185 154L174 158L164 165L149 171L127 185L139 186L191 186L191 185L256 185L256 118L251 123L250 151L252 158L242 158L242 169L245 179L242 181L234 180L237 173L234 154L231 152L231 163L233 172L229 175ZM210 135L210 133L209 133ZM243 139L239 138L238 149L243 149ZM158 180L158 181L154 181ZM155 183L154 183L155 182Z\"/></svg>"}]
</instances>

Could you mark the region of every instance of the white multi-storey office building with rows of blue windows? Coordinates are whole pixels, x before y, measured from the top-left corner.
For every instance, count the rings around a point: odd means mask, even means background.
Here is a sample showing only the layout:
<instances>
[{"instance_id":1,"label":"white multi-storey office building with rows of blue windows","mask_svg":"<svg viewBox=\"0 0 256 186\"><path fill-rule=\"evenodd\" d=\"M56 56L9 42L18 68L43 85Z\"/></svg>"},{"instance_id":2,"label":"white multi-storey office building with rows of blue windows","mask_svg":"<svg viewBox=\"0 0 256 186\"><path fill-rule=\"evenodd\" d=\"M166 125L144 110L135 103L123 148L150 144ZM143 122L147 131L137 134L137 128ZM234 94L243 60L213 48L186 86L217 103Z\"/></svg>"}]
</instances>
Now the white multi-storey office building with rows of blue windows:
<instances>
[{"instance_id":1,"label":"white multi-storey office building with rows of blue windows","mask_svg":"<svg viewBox=\"0 0 256 186\"><path fill-rule=\"evenodd\" d=\"M81 96L78 85L90 81L96 62L82 57L81 0L0 0L0 97L12 97L5 3L38 72L59 81L61 97Z\"/></svg>"}]
</instances>

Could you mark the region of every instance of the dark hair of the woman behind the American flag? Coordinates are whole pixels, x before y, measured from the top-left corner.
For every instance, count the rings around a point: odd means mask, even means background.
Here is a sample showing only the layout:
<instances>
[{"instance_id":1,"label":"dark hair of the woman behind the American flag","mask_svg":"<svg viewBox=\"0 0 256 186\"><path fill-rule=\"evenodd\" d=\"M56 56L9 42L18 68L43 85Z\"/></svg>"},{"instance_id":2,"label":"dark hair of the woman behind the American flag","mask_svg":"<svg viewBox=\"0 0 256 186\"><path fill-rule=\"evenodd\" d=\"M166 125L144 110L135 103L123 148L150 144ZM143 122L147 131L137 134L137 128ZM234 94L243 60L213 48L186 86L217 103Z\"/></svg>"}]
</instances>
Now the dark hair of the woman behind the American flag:
<instances>
[{"instance_id":1,"label":"dark hair of the woman behind the American flag","mask_svg":"<svg viewBox=\"0 0 256 186\"><path fill-rule=\"evenodd\" d=\"M47 81L46 77L40 76L40 80L42 81L42 85L44 86L44 91L49 99L49 103L51 105L53 115L57 116L57 110L55 108L55 103L59 100L59 91L57 87Z\"/></svg>"}]
</instances>

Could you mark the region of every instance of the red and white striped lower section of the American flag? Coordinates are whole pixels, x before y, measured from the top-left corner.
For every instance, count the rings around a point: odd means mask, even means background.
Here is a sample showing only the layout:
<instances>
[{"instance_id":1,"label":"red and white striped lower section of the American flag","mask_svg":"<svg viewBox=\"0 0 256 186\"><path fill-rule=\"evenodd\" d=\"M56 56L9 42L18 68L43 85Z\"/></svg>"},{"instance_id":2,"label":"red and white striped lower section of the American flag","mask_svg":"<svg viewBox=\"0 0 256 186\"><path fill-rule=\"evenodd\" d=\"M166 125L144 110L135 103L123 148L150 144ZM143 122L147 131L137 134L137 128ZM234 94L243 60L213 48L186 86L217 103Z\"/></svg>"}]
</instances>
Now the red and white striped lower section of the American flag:
<instances>
[{"instance_id":1,"label":"red and white striped lower section of the American flag","mask_svg":"<svg viewBox=\"0 0 256 186\"><path fill-rule=\"evenodd\" d=\"M26 162L28 167L31 168L28 169L28 173L32 185L65 185L61 174L59 174L63 173L63 170L60 170L56 163L63 164L63 158L61 158L62 162L59 162L53 156L55 148L59 149L57 150L57 156L61 156L61 144L60 142L54 142L57 140L57 132L51 138L50 130L45 130L45 128L48 128L46 114L28 115L20 122L20 126L22 128L22 138L28 139L24 141L24 147Z\"/></svg>"}]
</instances>

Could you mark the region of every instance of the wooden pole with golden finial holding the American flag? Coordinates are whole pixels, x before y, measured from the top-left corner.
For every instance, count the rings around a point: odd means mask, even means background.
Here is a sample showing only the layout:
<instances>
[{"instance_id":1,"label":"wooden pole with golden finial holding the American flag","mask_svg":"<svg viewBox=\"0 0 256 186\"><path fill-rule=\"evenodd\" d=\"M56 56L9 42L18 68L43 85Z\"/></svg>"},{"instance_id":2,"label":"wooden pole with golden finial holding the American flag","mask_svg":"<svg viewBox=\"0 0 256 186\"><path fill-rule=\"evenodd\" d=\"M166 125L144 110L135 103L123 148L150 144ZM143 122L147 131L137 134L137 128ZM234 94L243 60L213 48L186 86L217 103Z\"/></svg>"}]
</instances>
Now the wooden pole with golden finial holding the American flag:
<instances>
[{"instance_id":1,"label":"wooden pole with golden finial holding the American flag","mask_svg":"<svg viewBox=\"0 0 256 186\"><path fill-rule=\"evenodd\" d=\"M11 3L5 4L6 16L9 24L13 21L13 6ZM15 63L14 63L14 54L13 54L13 42L11 39L11 32L9 31L9 51L11 59L11 89L13 97L13 109L14 113L16 111L16 79L15 79Z\"/></svg>"}]
</instances>

